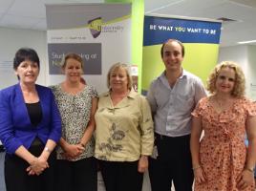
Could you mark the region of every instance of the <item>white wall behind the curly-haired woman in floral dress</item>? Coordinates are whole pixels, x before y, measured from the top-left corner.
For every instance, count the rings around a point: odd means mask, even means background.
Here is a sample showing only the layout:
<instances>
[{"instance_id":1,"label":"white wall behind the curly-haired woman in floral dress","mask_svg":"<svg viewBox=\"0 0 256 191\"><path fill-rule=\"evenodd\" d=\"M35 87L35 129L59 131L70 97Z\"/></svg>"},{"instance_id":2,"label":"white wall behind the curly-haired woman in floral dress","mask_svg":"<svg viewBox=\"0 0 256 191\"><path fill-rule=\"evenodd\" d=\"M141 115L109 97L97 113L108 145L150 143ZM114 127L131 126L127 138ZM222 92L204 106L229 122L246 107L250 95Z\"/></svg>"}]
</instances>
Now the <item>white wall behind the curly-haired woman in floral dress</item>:
<instances>
[{"instance_id":1,"label":"white wall behind the curly-haired woman in floral dress","mask_svg":"<svg viewBox=\"0 0 256 191\"><path fill-rule=\"evenodd\" d=\"M256 100L256 46L220 48L218 63L224 60L235 61L242 67L245 73L246 96Z\"/></svg>"}]
</instances>

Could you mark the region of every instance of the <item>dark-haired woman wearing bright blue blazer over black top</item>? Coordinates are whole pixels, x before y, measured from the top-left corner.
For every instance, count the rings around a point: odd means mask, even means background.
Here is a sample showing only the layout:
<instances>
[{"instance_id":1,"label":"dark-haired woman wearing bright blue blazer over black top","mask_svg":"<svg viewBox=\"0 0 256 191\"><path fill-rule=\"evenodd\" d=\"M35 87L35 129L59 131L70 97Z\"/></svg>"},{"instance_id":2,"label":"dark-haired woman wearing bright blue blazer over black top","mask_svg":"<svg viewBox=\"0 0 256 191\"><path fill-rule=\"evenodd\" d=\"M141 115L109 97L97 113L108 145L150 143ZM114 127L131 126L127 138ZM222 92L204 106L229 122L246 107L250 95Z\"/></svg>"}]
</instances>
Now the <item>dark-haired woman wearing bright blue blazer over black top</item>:
<instances>
[{"instance_id":1,"label":"dark-haired woman wearing bright blue blazer over black top","mask_svg":"<svg viewBox=\"0 0 256 191\"><path fill-rule=\"evenodd\" d=\"M13 69L19 83L0 92L7 191L54 190L54 147L61 136L61 119L53 93L35 84L40 62L34 50L18 50Z\"/></svg>"}]
</instances>

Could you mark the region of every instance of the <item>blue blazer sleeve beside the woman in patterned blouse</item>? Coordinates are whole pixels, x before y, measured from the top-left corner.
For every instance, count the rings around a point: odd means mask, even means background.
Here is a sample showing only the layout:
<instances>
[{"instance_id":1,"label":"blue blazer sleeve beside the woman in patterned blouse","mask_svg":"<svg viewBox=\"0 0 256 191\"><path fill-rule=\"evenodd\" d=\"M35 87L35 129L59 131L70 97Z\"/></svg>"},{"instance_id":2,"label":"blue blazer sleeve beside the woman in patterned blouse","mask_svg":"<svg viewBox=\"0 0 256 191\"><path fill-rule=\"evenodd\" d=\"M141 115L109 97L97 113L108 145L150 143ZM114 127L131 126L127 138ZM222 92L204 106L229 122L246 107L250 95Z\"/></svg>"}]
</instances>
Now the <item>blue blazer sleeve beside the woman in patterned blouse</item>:
<instances>
[{"instance_id":1,"label":"blue blazer sleeve beside the woman in patterned blouse","mask_svg":"<svg viewBox=\"0 0 256 191\"><path fill-rule=\"evenodd\" d=\"M52 139L54 142L58 142L61 138L61 118L52 91L50 94L52 99L52 128L49 139Z\"/></svg>"}]
</instances>

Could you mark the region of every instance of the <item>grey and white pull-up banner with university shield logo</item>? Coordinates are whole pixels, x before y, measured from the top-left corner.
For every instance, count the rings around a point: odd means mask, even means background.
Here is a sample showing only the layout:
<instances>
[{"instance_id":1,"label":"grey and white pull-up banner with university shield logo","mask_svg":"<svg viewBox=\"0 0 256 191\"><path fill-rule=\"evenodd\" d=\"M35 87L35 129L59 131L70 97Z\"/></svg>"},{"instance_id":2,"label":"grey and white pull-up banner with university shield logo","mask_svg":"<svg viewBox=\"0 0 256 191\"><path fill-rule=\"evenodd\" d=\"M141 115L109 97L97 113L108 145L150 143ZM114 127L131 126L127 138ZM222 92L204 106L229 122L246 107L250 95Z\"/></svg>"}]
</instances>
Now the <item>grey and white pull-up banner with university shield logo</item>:
<instances>
[{"instance_id":1,"label":"grey and white pull-up banner with university shield logo","mask_svg":"<svg viewBox=\"0 0 256 191\"><path fill-rule=\"evenodd\" d=\"M88 84L107 90L107 73L131 63L131 4L47 5L48 84L63 80L62 59L79 54Z\"/></svg>"}]
</instances>

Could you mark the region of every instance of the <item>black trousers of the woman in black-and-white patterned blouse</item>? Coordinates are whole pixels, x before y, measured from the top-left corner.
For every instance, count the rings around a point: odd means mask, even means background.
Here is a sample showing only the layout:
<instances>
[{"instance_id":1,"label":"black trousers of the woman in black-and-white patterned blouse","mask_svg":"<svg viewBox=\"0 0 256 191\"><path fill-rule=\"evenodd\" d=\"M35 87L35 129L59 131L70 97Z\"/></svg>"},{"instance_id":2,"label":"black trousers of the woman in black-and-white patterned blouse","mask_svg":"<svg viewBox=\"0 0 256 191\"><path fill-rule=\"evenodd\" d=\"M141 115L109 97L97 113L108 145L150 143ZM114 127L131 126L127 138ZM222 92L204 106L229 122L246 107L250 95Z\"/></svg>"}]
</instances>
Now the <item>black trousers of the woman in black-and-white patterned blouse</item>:
<instances>
[{"instance_id":1,"label":"black trousers of the woman in black-and-white patterned blouse","mask_svg":"<svg viewBox=\"0 0 256 191\"><path fill-rule=\"evenodd\" d=\"M57 159L57 191L96 191L96 159Z\"/></svg>"}]
</instances>

